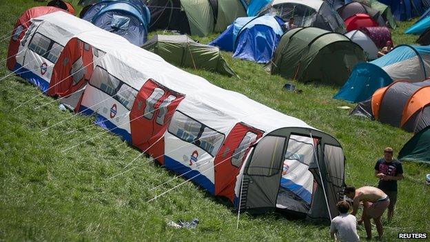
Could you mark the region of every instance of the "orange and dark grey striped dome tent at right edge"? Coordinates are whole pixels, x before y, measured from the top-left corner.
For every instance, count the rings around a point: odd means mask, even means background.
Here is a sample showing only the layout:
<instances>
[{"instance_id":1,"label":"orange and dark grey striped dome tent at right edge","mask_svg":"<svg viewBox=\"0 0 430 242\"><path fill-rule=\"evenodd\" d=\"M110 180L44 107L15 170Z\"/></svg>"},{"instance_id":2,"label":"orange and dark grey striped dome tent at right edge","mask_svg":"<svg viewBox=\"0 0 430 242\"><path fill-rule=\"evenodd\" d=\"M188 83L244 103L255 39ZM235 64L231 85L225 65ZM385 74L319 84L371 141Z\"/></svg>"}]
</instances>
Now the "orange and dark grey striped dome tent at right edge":
<instances>
[{"instance_id":1,"label":"orange and dark grey striped dome tent at right edge","mask_svg":"<svg viewBox=\"0 0 430 242\"><path fill-rule=\"evenodd\" d=\"M419 132L430 125L430 80L417 83L395 81L359 103L351 114Z\"/></svg>"}]
</instances>

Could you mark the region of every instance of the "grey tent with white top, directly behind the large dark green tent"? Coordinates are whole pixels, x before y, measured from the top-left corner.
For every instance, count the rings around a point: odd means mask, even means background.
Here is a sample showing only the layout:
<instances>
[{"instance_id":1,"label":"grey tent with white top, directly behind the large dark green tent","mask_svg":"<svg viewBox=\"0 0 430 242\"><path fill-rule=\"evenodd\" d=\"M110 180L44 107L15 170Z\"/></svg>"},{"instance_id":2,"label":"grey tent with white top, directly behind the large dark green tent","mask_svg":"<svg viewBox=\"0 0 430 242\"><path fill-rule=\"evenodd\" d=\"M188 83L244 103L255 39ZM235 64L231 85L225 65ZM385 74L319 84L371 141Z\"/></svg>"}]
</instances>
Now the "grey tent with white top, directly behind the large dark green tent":
<instances>
[{"instance_id":1,"label":"grey tent with white top, directly behind the large dark green tent","mask_svg":"<svg viewBox=\"0 0 430 242\"><path fill-rule=\"evenodd\" d=\"M344 34L345 26L339 14L329 3L320 0L274 0L272 6L260 14L269 13L281 17L285 22L294 17L300 27L316 27Z\"/></svg>"}]
</instances>

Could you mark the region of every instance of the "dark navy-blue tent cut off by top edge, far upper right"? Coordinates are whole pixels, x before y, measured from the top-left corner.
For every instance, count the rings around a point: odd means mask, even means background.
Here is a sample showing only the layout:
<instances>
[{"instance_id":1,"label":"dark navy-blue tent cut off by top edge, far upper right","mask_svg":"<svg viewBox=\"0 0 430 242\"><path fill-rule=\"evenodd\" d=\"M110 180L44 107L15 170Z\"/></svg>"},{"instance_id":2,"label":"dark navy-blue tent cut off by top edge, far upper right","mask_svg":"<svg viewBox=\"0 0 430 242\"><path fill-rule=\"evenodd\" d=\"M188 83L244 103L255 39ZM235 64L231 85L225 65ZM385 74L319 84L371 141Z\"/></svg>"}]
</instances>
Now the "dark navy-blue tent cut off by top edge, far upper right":
<instances>
[{"instance_id":1,"label":"dark navy-blue tent cut off by top edge, far upper right","mask_svg":"<svg viewBox=\"0 0 430 242\"><path fill-rule=\"evenodd\" d=\"M427 8L427 0L378 0L389 6L393 12L394 19L408 21L413 17L420 16ZM423 4L424 2L424 4Z\"/></svg>"}]
</instances>

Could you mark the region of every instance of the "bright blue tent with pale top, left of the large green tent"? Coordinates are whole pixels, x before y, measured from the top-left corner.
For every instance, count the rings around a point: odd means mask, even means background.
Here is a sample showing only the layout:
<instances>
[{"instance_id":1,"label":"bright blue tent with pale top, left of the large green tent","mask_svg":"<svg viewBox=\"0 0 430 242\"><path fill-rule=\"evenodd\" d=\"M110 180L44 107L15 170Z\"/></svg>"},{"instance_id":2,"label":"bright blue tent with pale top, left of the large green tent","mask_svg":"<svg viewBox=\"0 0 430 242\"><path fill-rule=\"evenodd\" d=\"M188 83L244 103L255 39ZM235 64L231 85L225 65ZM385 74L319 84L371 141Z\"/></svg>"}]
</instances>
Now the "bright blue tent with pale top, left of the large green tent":
<instances>
[{"instance_id":1,"label":"bright blue tent with pale top, left of the large green tent","mask_svg":"<svg viewBox=\"0 0 430 242\"><path fill-rule=\"evenodd\" d=\"M283 34L283 23L279 17L269 15L238 18L209 45L232 51L233 57L239 59L267 63Z\"/></svg>"}]
</instances>

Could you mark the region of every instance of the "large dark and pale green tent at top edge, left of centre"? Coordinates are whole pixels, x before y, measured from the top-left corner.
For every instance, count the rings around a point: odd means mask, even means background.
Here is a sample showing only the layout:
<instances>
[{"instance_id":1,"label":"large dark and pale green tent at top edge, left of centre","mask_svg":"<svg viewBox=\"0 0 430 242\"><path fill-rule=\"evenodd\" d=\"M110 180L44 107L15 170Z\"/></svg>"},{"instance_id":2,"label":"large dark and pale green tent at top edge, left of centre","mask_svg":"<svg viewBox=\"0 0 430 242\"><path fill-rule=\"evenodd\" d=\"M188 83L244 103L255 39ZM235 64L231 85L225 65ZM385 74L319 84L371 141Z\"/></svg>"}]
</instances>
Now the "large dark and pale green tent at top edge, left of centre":
<instances>
[{"instance_id":1,"label":"large dark and pale green tent at top edge, left of centre","mask_svg":"<svg viewBox=\"0 0 430 242\"><path fill-rule=\"evenodd\" d=\"M246 16L240 0L149 0L150 31L177 30L182 34L206 36L224 31L234 19Z\"/></svg>"}]
</instances>

